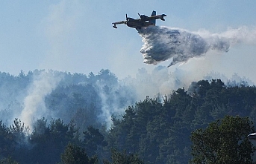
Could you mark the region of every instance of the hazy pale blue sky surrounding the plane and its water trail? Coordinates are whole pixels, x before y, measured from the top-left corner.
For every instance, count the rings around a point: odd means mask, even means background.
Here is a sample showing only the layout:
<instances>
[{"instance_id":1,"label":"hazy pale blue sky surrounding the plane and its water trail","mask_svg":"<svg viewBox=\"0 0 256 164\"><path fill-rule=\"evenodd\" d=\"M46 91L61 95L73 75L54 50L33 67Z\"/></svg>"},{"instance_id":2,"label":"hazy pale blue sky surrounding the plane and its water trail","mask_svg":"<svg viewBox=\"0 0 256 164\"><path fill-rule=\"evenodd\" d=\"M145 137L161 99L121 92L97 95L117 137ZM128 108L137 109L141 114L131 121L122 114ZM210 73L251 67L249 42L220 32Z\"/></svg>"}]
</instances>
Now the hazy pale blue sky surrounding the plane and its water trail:
<instances>
[{"instance_id":1,"label":"hazy pale blue sky surrounding the plane and its water trail","mask_svg":"<svg viewBox=\"0 0 256 164\"><path fill-rule=\"evenodd\" d=\"M165 13L166 21L157 25L189 31L222 33L230 28L256 27L255 0L184 1L0 1L0 71L18 74L34 69L71 73L98 73L110 69L119 78L134 76L143 63L142 39L137 30L112 22L125 14ZM167 66L169 62L160 63ZM241 44L228 53L210 52L183 65L169 68L202 76L210 71L246 76L256 83L256 46Z\"/></svg>"}]
</instances>

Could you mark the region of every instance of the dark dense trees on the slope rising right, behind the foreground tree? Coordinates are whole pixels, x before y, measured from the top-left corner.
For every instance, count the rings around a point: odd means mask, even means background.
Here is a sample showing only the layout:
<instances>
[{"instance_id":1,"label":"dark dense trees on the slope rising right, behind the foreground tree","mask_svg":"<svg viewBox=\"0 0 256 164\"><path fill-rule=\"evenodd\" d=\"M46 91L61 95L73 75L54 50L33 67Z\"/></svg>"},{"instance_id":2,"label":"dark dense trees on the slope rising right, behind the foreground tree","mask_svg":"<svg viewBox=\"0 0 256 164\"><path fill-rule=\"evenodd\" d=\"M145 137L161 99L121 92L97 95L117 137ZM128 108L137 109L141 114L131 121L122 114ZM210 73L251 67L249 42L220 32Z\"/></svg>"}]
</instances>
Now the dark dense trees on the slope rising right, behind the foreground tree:
<instances>
[{"instance_id":1,"label":"dark dense trees on the slope rising right, behind the foreground tree","mask_svg":"<svg viewBox=\"0 0 256 164\"><path fill-rule=\"evenodd\" d=\"M255 122L256 88L226 87L220 79L193 83L169 97L146 98L113 117L109 146L139 154L148 163L187 163L190 134L225 115L250 117Z\"/></svg>"}]
</instances>

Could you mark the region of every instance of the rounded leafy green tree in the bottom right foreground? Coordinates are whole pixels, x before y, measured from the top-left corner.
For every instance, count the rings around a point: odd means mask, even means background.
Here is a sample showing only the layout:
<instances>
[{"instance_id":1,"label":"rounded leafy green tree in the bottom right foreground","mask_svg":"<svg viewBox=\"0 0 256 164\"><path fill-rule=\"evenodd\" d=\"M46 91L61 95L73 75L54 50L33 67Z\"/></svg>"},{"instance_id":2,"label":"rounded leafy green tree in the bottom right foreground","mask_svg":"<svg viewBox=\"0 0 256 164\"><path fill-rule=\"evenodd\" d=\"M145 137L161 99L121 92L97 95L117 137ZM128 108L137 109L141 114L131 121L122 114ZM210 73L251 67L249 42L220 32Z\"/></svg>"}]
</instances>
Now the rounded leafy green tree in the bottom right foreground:
<instances>
[{"instance_id":1,"label":"rounded leafy green tree in the bottom right foreground","mask_svg":"<svg viewBox=\"0 0 256 164\"><path fill-rule=\"evenodd\" d=\"M193 131L191 163L252 163L255 149L247 136L254 131L249 118L230 116Z\"/></svg>"}]
</instances>

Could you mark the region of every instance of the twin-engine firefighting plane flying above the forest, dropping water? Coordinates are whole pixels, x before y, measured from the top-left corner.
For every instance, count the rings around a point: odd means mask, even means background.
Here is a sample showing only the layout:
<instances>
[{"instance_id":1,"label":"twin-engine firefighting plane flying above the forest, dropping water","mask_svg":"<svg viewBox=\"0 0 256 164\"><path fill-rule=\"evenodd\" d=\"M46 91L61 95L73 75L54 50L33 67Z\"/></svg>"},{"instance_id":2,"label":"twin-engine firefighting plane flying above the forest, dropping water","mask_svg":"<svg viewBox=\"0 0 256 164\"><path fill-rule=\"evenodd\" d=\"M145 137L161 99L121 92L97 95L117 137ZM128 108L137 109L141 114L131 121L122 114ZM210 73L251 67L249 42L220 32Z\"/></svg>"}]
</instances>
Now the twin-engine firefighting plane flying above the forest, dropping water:
<instances>
[{"instance_id":1,"label":"twin-engine firefighting plane flying above the forest, dropping water","mask_svg":"<svg viewBox=\"0 0 256 164\"><path fill-rule=\"evenodd\" d=\"M140 16L140 19L129 18L127 17L127 14L126 14L126 21L113 22L112 23L113 27L117 28L116 24L126 24L128 27L132 27L132 28L136 28L136 30L140 30L141 27L148 27L151 25L155 26L156 19L161 19L162 21L165 21L163 17L166 16L165 14L157 15L156 11L153 11L151 16L140 15L140 13L138 14Z\"/></svg>"}]
</instances>

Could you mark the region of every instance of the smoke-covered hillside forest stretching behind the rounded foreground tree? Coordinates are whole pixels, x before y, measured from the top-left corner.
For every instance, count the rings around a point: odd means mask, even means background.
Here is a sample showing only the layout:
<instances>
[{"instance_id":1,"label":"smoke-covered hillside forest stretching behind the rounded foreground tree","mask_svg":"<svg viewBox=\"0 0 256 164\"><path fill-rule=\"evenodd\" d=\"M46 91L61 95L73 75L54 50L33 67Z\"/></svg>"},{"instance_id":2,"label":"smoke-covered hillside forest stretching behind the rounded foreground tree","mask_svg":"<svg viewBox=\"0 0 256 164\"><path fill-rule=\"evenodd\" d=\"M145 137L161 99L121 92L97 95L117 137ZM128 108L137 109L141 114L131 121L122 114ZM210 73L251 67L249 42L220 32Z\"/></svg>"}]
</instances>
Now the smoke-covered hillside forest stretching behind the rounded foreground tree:
<instances>
[{"instance_id":1,"label":"smoke-covered hillside forest stretching behind the rounded foreground tree","mask_svg":"<svg viewBox=\"0 0 256 164\"><path fill-rule=\"evenodd\" d=\"M177 71L160 76L158 67L152 78L141 69L124 80L110 70L0 73L0 160L61 163L70 148L99 163L113 155L188 163L192 131L225 115L256 122L255 86L207 76L183 88L183 79L170 81Z\"/></svg>"}]
</instances>

